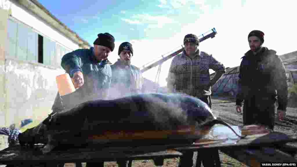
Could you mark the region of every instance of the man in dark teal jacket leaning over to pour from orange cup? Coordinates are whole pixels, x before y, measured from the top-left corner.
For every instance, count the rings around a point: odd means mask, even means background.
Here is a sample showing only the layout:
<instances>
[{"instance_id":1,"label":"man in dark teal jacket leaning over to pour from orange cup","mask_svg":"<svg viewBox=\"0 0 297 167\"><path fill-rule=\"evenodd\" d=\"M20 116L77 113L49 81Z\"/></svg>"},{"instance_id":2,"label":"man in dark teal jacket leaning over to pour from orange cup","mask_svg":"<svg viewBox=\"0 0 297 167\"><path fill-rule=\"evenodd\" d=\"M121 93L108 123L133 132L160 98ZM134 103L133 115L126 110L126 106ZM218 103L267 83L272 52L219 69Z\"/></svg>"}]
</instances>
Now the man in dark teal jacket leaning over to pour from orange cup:
<instances>
[{"instance_id":1,"label":"man in dark teal jacket leaning over to pour from orange cup","mask_svg":"<svg viewBox=\"0 0 297 167\"><path fill-rule=\"evenodd\" d=\"M80 103L106 99L112 71L107 57L114 49L114 37L100 33L90 49L78 49L62 57L61 66L72 78L77 89L60 97L59 92L53 104L53 112L68 110Z\"/></svg>"}]
</instances>

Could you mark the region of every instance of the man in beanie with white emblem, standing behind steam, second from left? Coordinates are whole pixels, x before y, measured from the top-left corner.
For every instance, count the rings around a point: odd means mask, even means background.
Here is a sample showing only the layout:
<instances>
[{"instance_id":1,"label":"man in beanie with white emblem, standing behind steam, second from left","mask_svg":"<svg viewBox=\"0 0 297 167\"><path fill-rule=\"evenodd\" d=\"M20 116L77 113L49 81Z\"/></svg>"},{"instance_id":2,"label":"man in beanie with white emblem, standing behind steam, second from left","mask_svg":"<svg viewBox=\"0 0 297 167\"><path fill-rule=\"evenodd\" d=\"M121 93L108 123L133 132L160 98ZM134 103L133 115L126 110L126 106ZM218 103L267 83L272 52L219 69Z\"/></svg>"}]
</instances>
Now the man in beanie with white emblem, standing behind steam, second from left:
<instances>
[{"instance_id":1,"label":"man in beanie with white emblem, standing behind steam, second from left","mask_svg":"<svg viewBox=\"0 0 297 167\"><path fill-rule=\"evenodd\" d=\"M132 44L123 42L119 46L119 59L111 65L113 72L109 99L141 93L143 78L139 68L131 65Z\"/></svg>"}]
</instances>

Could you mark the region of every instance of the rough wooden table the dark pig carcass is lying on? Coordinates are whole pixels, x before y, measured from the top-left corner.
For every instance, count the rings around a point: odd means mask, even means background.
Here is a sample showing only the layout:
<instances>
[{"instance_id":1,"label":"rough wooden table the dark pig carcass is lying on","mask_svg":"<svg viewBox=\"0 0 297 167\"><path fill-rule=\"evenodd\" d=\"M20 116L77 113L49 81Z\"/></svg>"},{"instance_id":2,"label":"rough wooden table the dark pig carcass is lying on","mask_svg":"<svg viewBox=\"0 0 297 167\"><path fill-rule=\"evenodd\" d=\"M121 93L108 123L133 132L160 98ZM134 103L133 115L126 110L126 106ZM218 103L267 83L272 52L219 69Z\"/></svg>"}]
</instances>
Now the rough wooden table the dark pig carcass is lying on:
<instances>
[{"instance_id":1,"label":"rough wooden table the dark pig carcass is lying on","mask_svg":"<svg viewBox=\"0 0 297 167\"><path fill-rule=\"evenodd\" d=\"M287 136L279 132L263 133L266 131L263 129L261 131L259 128L255 130L255 127L252 132L249 132L250 129L244 130L243 127L233 126L235 127L242 134L249 133L248 138L239 139L226 127L214 127L210 133L211 140L201 139L193 144L133 147L105 145L71 149L61 147L48 155L42 155L40 151L42 145L35 145L34 148L21 148L20 145L15 145L0 151L0 164L57 166L59 163L153 159L156 166L161 166L165 158L181 157L183 150L203 152L204 149L210 148L217 148L248 166L260 166L264 162L297 162L297 148L286 144L296 142L296 136Z\"/></svg>"}]
</instances>

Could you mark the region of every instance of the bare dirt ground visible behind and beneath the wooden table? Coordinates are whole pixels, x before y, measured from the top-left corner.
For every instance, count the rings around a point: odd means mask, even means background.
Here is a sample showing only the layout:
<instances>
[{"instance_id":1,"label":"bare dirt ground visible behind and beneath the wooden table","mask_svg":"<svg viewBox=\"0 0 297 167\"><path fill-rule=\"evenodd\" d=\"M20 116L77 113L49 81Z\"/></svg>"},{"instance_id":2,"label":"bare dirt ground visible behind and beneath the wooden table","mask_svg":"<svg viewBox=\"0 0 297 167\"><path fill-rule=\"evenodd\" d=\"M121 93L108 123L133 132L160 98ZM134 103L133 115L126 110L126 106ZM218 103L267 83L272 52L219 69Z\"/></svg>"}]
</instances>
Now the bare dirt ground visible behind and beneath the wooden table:
<instances>
[{"instance_id":1,"label":"bare dirt ground visible behind and beneath the wooden table","mask_svg":"<svg viewBox=\"0 0 297 167\"><path fill-rule=\"evenodd\" d=\"M235 113L235 99L229 97L212 97L213 103L213 112L217 117L220 117L225 122L231 125L242 125L242 115ZM296 102L297 103L297 102ZM282 132L287 135L297 136L297 108L287 108L287 117L281 122L276 122L274 131ZM291 145L297 146L297 143L291 143ZM195 155L197 153L195 152ZM194 157L195 157L194 155ZM243 163L225 155L222 152L219 152L221 166L222 167L241 167L246 166ZM165 167L177 167L179 158L165 159ZM74 167L75 164L67 163L65 167ZM83 166L86 166L83 163ZM116 167L118 166L115 162L105 162L105 167ZM133 167L153 167L154 163L152 160L137 160L132 162ZM194 163L195 166L195 163Z\"/></svg>"}]
</instances>

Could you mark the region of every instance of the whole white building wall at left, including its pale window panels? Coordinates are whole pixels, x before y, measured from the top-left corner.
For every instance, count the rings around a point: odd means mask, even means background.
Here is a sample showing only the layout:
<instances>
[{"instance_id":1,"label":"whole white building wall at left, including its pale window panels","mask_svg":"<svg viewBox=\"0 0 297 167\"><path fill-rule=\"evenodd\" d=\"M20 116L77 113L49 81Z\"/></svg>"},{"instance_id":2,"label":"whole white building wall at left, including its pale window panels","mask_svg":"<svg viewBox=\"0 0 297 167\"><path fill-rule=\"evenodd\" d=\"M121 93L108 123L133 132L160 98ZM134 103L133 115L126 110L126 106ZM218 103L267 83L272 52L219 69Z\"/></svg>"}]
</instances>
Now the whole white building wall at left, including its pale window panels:
<instances>
[{"instance_id":1,"label":"whole white building wall at left, including its pale window panels","mask_svg":"<svg viewBox=\"0 0 297 167\"><path fill-rule=\"evenodd\" d=\"M9 1L0 0L0 14L5 14L4 3ZM5 46L0 47L0 127L19 126L27 118L45 119L58 91L56 76L65 73L61 57L79 48L18 4L8 6L11 16L0 17L7 27L0 29L5 38L0 43ZM38 63L38 34L43 36L43 64Z\"/></svg>"}]
</instances>

